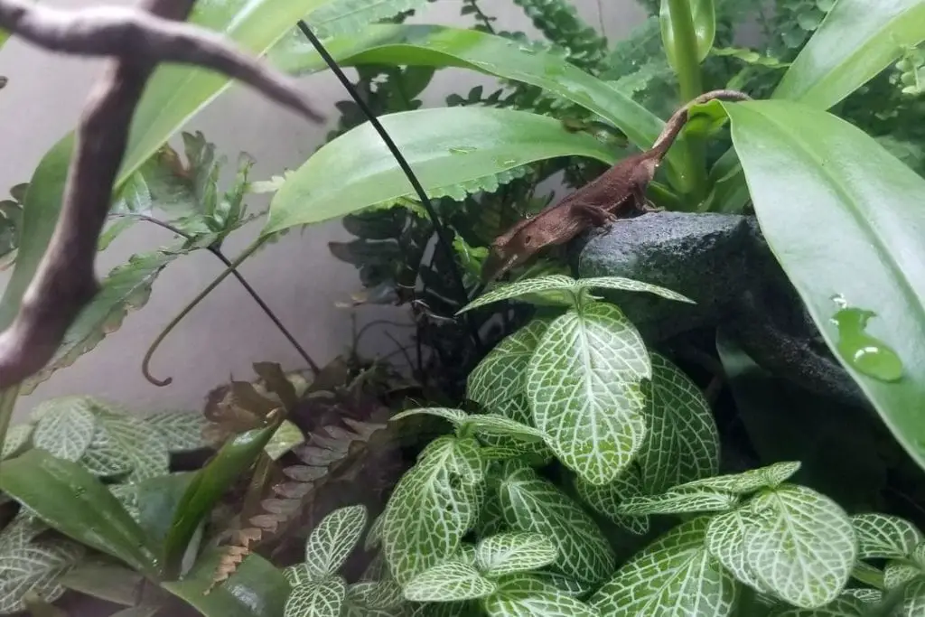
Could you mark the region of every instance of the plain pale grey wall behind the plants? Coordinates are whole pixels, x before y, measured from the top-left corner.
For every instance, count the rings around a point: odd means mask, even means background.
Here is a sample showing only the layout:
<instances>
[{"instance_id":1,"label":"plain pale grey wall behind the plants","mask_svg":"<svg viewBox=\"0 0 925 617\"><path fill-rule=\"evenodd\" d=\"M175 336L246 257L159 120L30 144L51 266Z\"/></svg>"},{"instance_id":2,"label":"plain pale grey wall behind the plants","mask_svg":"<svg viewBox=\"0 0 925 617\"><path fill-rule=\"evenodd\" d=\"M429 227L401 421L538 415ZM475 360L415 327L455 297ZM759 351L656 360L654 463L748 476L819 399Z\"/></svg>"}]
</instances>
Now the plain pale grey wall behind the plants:
<instances>
[{"instance_id":1,"label":"plain pale grey wall behind the plants","mask_svg":"<svg viewBox=\"0 0 925 617\"><path fill-rule=\"evenodd\" d=\"M54 6L134 4L133 0L42 0ZM482 0L487 13L499 18L505 30L534 33L523 11L510 0ZM634 0L575 0L588 23L603 27L611 41L623 37L645 17ZM458 0L441 0L415 21L463 25ZM92 61L52 56L15 40L0 52L0 75L9 82L0 91L0 194L28 181L42 155L68 130L99 70ZM442 105L450 92L465 92L476 83L490 80L475 73L453 70L438 73L425 93L426 106ZM304 80L317 109L336 120L333 103L346 98L329 73ZM323 141L328 127L314 127L240 87L232 87L215 103L193 118L185 130L202 130L222 154L233 161L240 152L256 160L253 179L268 178L285 167L297 167ZM0 197L2 199L4 197ZM259 200L250 200L254 206ZM227 244L237 253L255 235L258 226L242 229ZM348 234L338 222L319 225L304 234L291 234L258 253L241 271L290 327L302 346L319 363L346 349L351 339L351 312L337 308L359 289L351 265L336 261L327 252L327 241L344 240ZM123 263L132 253L152 250L168 241L160 228L137 225L123 234L99 260L101 274ZM301 358L279 334L237 282L227 279L174 331L157 352L156 376L173 376L174 383L156 388L140 373L142 355L151 340L199 290L221 272L222 265L208 253L194 254L171 265L158 278L150 302L130 314L115 334L107 337L77 364L59 372L33 394L22 397L17 407L21 418L37 402L66 394L93 394L121 401L139 411L199 409L209 391L234 375L249 378L251 364L276 361L286 367L302 366ZM0 285L7 273L0 273ZM362 325L376 309L356 312ZM383 309L379 309L380 311ZM401 311L395 315L402 315ZM364 350L375 352L390 345L387 339L364 339Z\"/></svg>"}]
</instances>

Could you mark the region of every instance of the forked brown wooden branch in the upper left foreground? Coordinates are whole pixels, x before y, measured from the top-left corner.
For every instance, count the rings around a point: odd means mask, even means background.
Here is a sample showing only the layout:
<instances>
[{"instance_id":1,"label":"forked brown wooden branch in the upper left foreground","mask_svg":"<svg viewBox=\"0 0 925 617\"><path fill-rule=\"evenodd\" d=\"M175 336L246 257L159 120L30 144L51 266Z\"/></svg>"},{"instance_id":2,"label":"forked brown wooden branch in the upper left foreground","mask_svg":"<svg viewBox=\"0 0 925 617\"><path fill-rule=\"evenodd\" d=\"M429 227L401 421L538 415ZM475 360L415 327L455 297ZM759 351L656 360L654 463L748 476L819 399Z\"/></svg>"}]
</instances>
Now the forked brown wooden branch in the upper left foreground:
<instances>
[{"instance_id":1,"label":"forked brown wooden branch in the upper left foreground","mask_svg":"<svg viewBox=\"0 0 925 617\"><path fill-rule=\"evenodd\" d=\"M311 120L289 81L186 19L194 0L146 0L142 9L58 10L0 0L0 28L52 51L116 56L94 85L77 130L55 232L10 327L0 334L0 389L38 372L95 296L96 245L147 80L162 62L213 68Z\"/></svg>"}]
</instances>

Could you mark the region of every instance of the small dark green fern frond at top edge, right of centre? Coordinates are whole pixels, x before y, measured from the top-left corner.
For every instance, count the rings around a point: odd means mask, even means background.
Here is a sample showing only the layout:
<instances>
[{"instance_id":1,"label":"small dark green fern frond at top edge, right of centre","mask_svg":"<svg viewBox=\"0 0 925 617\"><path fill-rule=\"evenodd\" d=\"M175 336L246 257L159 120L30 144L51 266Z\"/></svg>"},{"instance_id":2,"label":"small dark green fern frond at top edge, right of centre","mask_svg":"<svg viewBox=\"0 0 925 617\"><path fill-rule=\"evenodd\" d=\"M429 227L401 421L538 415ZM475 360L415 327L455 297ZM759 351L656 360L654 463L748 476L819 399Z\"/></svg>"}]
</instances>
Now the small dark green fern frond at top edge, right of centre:
<instances>
[{"instance_id":1,"label":"small dark green fern frond at top edge, right of centre","mask_svg":"<svg viewBox=\"0 0 925 617\"><path fill-rule=\"evenodd\" d=\"M568 50L569 61L597 73L607 56L607 39L578 17L570 0L514 0L550 42Z\"/></svg>"}]
</instances>

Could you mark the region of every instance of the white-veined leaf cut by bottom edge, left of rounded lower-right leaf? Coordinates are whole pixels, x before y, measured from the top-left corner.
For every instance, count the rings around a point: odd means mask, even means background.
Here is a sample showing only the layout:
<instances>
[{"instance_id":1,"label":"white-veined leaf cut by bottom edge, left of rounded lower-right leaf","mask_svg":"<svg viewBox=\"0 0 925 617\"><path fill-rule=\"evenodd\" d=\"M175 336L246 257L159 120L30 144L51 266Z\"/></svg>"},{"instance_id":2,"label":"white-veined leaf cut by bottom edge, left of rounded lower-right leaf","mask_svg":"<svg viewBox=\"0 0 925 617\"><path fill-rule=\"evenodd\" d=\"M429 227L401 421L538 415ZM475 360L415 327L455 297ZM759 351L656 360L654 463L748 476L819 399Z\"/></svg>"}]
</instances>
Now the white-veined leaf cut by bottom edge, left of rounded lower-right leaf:
<instances>
[{"instance_id":1,"label":"white-veined leaf cut by bottom edge, left of rounded lower-right leaf","mask_svg":"<svg viewBox=\"0 0 925 617\"><path fill-rule=\"evenodd\" d=\"M623 565L588 603L601 617L731 614L735 579L704 546L707 524L701 516L675 527Z\"/></svg>"}]
</instances>

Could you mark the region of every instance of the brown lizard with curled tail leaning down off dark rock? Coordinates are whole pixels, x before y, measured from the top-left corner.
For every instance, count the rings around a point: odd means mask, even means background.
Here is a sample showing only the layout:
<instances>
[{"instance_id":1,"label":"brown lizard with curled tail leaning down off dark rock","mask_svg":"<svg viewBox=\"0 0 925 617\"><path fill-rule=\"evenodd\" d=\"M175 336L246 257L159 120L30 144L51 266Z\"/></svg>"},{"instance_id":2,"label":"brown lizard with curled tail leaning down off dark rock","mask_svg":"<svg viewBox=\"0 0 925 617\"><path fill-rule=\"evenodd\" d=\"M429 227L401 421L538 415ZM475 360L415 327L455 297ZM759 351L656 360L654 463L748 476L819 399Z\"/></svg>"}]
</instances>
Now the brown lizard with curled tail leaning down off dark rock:
<instances>
[{"instance_id":1,"label":"brown lizard with curled tail leaning down off dark rock","mask_svg":"<svg viewBox=\"0 0 925 617\"><path fill-rule=\"evenodd\" d=\"M714 99L747 101L750 97L734 90L714 90L678 109L649 150L627 156L558 204L519 221L492 242L482 267L483 280L499 278L546 247L572 241L588 227L615 220L618 213L648 209L648 184L655 178L661 159L684 129L691 107Z\"/></svg>"}]
</instances>

